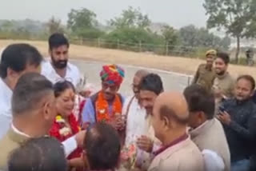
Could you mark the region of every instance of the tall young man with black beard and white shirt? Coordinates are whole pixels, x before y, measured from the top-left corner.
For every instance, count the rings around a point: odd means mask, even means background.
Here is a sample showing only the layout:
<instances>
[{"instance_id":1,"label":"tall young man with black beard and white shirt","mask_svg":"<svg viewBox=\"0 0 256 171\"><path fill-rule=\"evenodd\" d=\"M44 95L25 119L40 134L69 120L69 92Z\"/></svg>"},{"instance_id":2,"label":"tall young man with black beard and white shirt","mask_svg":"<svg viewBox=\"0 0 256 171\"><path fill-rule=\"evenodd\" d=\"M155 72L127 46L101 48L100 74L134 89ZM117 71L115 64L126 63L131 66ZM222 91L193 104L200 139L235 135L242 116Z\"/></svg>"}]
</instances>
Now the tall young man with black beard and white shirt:
<instances>
[{"instance_id":1,"label":"tall young man with black beard and white shirt","mask_svg":"<svg viewBox=\"0 0 256 171\"><path fill-rule=\"evenodd\" d=\"M77 66L68 62L70 44L63 34L52 34L49 38L49 54L51 61L42 62L41 74L53 84L67 80L77 87L80 72Z\"/></svg>"}]
</instances>

